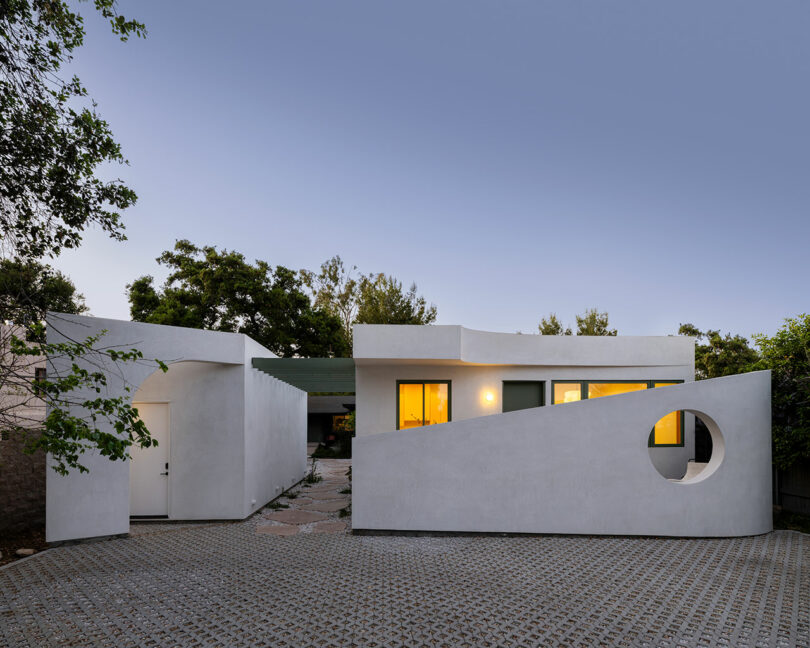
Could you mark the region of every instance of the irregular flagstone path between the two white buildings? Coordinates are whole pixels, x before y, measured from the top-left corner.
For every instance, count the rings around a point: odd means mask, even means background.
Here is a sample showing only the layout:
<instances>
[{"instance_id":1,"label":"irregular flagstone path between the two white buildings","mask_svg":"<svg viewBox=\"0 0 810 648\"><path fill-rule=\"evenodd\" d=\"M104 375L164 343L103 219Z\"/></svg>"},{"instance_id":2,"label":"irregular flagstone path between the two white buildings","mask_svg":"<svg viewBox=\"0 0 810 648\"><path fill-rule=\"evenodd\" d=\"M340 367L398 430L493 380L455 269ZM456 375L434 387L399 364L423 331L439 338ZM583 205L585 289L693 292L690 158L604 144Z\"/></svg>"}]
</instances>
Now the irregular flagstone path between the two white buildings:
<instances>
[{"instance_id":1,"label":"irregular flagstone path between the two white buildings","mask_svg":"<svg viewBox=\"0 0 810 648\"><path fill-rule=\"evenodd\" d=\"M282 495L275 500L289 508L265 507L256 524L256 534L293 536L306 533L346 533L350 518L340 512L351 506L351 495L340 491L351 489L346 472L351 466L348 459L318 459L316 474L322 480L314 484L301 483L291 491L296 497Z\"/></svg>"}]
</instances>

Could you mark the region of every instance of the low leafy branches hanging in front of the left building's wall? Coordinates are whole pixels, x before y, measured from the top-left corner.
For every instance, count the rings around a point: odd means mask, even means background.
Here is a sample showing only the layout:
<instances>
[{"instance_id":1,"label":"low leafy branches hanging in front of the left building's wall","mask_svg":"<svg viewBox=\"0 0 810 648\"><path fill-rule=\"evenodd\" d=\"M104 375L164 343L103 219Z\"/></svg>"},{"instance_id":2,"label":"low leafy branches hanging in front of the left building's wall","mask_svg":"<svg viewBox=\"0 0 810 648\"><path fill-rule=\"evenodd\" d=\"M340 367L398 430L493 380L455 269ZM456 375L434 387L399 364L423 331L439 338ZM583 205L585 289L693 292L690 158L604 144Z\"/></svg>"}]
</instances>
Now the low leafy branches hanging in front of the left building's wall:
<instances>
[{"instance_id":1,"label":"low leafy branches hanging in front of the left building's wall","mask_svg":"<svg viewBox=\"0 0 810 648\"><path fill-rule=\"evenodd\" d=\"M41 323L31 328L34 330L3 327L5 339L0 340L5 365L0 389L8 395L0 405L0 428L24 435L25 452L48 453L52 468L66 475L72 469L88 472L80 463L87 450L123 460L129 457L130 446L157 445L130 403L130 386L124 385L124 395L109 396L107 381L115 371L120 375L121 364L149 362L166 372L164 362L145 360L137 349L96 346L106 331L82 341L52 343L26 341L26 337L44 339ZM59 360L60 366L69 368L32 380L33 364L44 358L51 363ZM47 411L44 420L43 408Z\"/></svg>"}]
</instances>

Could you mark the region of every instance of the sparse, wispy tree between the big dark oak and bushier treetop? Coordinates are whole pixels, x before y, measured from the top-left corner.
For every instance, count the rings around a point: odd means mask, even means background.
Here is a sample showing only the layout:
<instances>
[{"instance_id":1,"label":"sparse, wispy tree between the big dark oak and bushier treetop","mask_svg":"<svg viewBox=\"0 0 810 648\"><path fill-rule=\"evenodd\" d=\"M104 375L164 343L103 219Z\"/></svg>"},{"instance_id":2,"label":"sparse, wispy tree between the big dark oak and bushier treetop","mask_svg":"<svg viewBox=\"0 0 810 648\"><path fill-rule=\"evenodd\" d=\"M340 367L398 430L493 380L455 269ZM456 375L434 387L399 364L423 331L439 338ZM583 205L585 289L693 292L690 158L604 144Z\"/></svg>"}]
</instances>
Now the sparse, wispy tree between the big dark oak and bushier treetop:
<instances>
[{"instance_id":1,"label":"sparse, wispy tree between the big dark oak and bushier treetop","mask_svg":"<svg viewBox=\"0 0 810 648\"><path fill-rule=\"evenodd\" d=\"M340 256L334 256L321 264L318 274L300 271L304 285L312 292L313 306L340 319L350 344L360 296L359 283L352 277L356 270L357 266L347 270Z\"/></svg>"}]
</instances>

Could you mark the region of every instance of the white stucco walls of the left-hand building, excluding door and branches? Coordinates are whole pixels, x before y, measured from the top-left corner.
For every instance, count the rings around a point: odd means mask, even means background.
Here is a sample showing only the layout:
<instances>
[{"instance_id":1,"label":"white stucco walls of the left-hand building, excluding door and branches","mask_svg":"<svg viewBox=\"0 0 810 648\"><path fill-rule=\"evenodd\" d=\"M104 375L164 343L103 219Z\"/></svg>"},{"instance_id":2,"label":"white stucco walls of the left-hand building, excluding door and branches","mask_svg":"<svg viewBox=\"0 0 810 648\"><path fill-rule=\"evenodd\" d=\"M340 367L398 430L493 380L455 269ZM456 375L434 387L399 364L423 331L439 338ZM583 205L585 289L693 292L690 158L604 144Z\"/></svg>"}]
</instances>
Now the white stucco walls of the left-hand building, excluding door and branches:
<instances>
[{"instance_id":1,"label":"white stucco walls of the left-hand building, excluding door and branches","mask_svg":"<svg viewBox=\"0 0 810 648\"><path fill-rule=\"evenodd\" d=\"M51 342L104 329L103 345L170 363L166 374L148 362L105 369L109 395L169 402L171 519L241 519L274 496L268 485L303 477L306 394L279 381L257 382L250 358L274 357L270 351L236 333L48 314ZM68 366L62 358L49 361L50 372ZM49 542L129 531L129 462L94 451L81 461L89 473L47 473Z\"/></svg>"}]
</instances>

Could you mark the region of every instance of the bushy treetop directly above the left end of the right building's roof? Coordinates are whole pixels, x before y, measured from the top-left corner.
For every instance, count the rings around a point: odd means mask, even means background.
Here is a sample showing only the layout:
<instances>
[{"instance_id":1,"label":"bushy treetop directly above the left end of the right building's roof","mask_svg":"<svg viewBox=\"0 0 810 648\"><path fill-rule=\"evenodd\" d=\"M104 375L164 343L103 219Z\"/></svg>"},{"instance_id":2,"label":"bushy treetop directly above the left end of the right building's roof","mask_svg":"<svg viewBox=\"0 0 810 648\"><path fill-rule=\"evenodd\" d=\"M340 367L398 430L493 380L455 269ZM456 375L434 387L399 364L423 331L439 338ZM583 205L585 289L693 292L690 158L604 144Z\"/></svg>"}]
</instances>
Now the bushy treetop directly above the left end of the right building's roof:
<instances>
[{"instance_id":1,"label":"bushy treetop directly above the left end of the right building's roof","mask_svg":"<svg viewBox=\"0 0 810 648\"><path fill-rule=\"evenodd\" d=\"M383 273L362 277L358 324L432 324L436 306L416 294L416 284L404 292L402 282Z\"/></svg>"}]
</instances>

